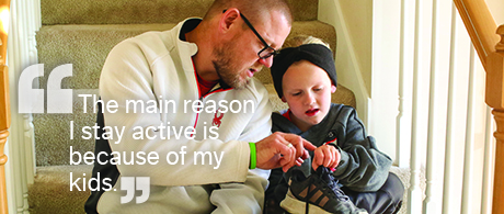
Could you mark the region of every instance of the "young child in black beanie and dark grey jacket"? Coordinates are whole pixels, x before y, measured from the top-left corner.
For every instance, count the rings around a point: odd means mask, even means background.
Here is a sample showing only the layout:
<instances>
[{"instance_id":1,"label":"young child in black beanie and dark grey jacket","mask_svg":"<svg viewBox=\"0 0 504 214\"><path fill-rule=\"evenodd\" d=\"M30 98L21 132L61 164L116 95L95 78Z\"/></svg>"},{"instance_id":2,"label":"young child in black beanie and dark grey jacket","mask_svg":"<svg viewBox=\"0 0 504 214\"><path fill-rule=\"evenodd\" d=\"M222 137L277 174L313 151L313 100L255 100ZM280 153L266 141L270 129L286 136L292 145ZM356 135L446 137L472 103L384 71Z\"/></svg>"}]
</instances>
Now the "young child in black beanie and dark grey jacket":
<instances>
[{"instance_id":1,"label":"young child in black beanie and dark grey jacket","mask_svg":"<svg viewBox=\"0 0 504 214\"><path fill-rule=\"evenodd\" d=\"M404 187L389 173L392 160L366 135L355 109L331 103L337 82L329 46L310 36L273 61L275 90L289 105L273 113L273 132L298 134L318 148L300 167L272 171L265 212L278 213L280 201L289 213L398 212Z\"/></svg>"}]
</instances>

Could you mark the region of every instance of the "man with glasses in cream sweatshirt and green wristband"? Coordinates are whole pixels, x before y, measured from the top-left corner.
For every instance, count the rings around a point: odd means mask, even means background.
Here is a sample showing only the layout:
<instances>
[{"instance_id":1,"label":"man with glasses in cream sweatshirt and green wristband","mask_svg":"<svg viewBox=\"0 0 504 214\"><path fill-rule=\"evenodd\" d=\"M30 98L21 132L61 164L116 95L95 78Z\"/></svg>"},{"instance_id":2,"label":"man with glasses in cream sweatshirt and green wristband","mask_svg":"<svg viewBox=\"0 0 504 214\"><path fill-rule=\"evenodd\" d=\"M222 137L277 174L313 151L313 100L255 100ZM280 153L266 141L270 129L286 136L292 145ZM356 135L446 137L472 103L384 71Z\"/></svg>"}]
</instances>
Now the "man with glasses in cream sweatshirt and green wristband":
<instances>
[{"instance_id":1,"label":"man with glasses in cream sweatshirt and green wristband","mask_svg":"<svg viewBox=\"0 0 504 214\"><path fill-rule=\"evenodd\" d=\"M102 184L92 192L87 212L261 213L270 173L263 169L287 170L302 162L305 148L314 149L296 135L268 136L267 91L251 79L262 66L271 67L291 22L285 0L216 0L203 20L188 19L114 47L100 94L103 103L118 104L116 111L99 112L98 122L125 133L119 143L96 140L95 154L114 151L130 160L153 153L159 161L111 164L112 156L95 161L93 178L112 180L113 188L104 191ZM147 111L130 101L158 105ZM231 101L251 101L253 108L205 106ZM122 204L121 177L150 178L149 199Z\"/></svg>"}]
</instances>

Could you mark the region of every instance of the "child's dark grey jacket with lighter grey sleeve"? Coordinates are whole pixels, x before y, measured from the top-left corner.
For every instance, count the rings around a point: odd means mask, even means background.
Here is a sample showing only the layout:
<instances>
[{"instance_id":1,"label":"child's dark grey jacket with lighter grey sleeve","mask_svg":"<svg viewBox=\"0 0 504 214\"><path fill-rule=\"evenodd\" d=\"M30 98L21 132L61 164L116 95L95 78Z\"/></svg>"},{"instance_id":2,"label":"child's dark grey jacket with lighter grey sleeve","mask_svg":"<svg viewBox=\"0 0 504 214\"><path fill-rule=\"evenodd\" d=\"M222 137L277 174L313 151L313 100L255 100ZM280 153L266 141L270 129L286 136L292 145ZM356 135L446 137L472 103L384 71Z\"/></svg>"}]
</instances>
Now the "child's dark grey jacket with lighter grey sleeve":
<instances>
[{"instance_id":1,"label":"child's dark grey jacket with lighter grey sleeve","mask_svg":"<svg viewBox=\"0 0 504 214\"><path fill-rule=\"evenodd\" d=\"M366 135L364 124L354 108L332 103L328 115L307 132L301 132L279 113L273 113L272 119L273 132L294 133L316 146L336 138L334 144L340 150L341 161L334 171L334 178L348 189L358 192L377 191L387 180L392 160L378 150L374 137ZM311 171L311 157L312 151L310 158L299 167L306 176ZM275 195L285 196L288 177L289 172L284 174L282 169L274 169L266 194L276 192Z\"/></svg>"}]
</instances>

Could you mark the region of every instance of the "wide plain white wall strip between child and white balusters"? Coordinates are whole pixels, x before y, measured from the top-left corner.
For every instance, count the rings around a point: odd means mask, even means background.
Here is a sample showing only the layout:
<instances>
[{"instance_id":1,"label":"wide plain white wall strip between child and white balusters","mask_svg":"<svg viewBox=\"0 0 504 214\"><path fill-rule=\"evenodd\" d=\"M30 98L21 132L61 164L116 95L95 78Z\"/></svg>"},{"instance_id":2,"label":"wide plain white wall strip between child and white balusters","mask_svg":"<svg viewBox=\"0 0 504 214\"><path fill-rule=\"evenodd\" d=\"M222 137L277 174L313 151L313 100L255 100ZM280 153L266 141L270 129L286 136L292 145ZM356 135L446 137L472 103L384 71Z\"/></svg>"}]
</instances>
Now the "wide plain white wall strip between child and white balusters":
<instances>
[{"instance_id":1,"label":"wide plain white wall strip between child and white balusters","mask_svg":"<svg viewBox=\"0 0 504 214\"><path fill-rule=\"evenodd\" d=\"M369 134L378 147L397 159L399 45L401 10L397 0L375 1L373 7L371 102Z\"/></svg>"}]
</instances>

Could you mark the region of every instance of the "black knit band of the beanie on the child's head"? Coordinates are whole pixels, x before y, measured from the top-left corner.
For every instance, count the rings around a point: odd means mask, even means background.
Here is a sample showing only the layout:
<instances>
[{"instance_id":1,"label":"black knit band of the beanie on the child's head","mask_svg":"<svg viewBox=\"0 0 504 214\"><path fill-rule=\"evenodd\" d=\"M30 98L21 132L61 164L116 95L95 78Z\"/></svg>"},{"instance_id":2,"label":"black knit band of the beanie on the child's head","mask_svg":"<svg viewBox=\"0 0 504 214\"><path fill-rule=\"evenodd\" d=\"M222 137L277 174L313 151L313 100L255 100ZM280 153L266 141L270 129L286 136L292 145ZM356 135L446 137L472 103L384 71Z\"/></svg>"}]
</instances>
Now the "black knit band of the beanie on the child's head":
<instances>
[{"instance_id":1,"label":"black knit band of the beanie on the child's head","mask_svg":"<svg viewBox=\"0 0 504 214\"><path fill-rule=\"evenodd\" d=\"M280 53L273 58L273 66L271 68L273 85L275 86L276 93L278 93L278 98L284 95L282 90L284 74L290 65L300 60L308 60L325 70L329 78L331 78L334 86L336 86L336 67L334 66L331 49L320 44L305 44L298 47L287 47L282 49Z\"/></svg>"}]
</instances>

